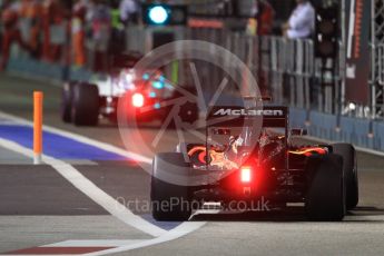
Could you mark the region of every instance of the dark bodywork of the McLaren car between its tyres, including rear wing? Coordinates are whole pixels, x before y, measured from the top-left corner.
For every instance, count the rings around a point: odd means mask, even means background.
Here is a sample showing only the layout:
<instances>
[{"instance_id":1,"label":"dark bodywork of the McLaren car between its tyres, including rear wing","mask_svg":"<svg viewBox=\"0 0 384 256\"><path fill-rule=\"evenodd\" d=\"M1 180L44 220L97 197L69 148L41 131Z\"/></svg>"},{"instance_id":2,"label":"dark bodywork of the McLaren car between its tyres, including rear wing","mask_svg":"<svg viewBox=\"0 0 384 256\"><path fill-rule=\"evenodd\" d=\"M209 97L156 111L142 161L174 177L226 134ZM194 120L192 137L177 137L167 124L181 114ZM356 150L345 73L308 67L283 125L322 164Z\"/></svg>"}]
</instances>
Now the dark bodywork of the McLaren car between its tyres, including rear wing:
<instances>
[{"instance_id":1,"label":"dark bodywork of the McLaren car between its tyres, including rear wing","mask_svg":"<svg viewBox=\"0 0 384 256\"><path fill-rule=\"evenodd\" d=\"M216 118L219 120L215 121ZM240 144L247 140L242 138L245 137L244 126L247 120L255 118L263 124L260 132L247 138L252 140L252 147L244 146ZM206 145L186 145L191 168L216 175L215 179L208 178L204 186L197 187L194 197L221 203L255 201L260 198L276 204L303 203L309 184L308 158L332 152L332 146L292 145L288 118L286 107L213 108L207 119ZM237 126L243 126L243 135L234 135ZM214 145L210 138L213 134L229 137L228 144ZM245 166L252 169L249 183L240 180Z\"/></svg>"}]
</instances>

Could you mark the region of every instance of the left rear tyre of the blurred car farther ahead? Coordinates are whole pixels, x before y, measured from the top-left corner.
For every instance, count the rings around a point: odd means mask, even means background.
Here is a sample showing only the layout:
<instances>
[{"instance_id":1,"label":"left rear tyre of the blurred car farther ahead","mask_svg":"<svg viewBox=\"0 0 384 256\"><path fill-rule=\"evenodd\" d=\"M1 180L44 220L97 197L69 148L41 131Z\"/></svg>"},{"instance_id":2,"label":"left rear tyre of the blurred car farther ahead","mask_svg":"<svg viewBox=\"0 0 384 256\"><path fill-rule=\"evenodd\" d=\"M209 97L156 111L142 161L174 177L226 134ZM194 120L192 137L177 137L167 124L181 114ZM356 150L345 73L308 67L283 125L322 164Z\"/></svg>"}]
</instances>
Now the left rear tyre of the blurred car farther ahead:
<instances>
[{"instance_id":1,"label":"left rear tyre of the blurred car farther ahead","mask_svg":"<svg viewBox=\"0 0 384 256\"><path fill-rule=\"evenodd\" d=\"M79 82L73 86L71 120L76 126L97 126L100 98L97 86Z\"/></svg>"}]
</instances>

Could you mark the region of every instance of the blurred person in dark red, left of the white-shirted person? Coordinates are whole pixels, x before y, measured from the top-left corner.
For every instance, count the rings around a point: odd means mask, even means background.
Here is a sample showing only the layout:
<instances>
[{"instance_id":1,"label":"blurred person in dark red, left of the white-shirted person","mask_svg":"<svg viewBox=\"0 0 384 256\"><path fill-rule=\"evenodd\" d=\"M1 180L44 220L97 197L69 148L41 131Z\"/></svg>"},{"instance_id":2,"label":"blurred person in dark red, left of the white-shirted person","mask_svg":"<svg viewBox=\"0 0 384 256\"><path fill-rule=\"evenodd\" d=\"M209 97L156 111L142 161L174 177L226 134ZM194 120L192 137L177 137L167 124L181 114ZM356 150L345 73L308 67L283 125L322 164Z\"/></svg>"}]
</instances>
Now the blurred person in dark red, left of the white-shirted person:
<instances>
[{"instance_id":1,"label":"blurred person in dark red, left of the white-shirted person","mask_svg":"<svg viewBox=\"0 0 384 256\"><path fill-rule=\"evenodd\" d=\"M248 20L247 33L252 36L270 35L275 11L265 0L256 0L253 4L252 16Z\"/></svg>"}]
</instances>

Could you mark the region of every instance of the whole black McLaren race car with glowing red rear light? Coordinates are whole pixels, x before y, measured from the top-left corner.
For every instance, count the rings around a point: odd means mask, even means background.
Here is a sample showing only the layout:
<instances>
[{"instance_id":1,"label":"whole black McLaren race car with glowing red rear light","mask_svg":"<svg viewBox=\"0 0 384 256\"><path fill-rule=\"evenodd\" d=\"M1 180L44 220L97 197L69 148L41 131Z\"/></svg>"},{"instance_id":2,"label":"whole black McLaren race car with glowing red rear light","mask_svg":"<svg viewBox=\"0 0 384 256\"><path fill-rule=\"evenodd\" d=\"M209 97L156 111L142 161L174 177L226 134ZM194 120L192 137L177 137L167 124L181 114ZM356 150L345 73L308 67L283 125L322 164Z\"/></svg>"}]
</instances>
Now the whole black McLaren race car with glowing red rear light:
<instances>
[{"instance_id":1,"label":"whole black McLaren race car with glowing red rear light","mask_svg":"<svg viewBox=\"0 0 384 256\"><path fill-rule=\"evenodd\" d=\"M255 118L263 118L257 134L247 125ZM303 135L304 129L289 130L286 107L213 107L205 145L179 144L175 152L155 156L154 218L187 220L201 203L233 209L243 201L253 210L267 200L269 209L304 205L311 220L342 220L358 201L355 149L295 146L293 137Z\"/></svg>"}]
</instances>

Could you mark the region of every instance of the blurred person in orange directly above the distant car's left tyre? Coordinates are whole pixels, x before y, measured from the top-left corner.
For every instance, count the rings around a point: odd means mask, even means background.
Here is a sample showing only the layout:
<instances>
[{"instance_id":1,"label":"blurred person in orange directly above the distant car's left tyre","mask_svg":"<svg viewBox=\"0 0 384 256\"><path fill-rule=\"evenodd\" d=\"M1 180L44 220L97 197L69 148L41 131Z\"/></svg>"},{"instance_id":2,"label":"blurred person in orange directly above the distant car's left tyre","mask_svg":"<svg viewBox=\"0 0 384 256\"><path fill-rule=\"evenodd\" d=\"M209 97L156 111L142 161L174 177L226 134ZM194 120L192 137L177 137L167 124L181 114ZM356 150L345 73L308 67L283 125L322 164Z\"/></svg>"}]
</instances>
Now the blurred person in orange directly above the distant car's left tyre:
<instances>
[{"instance_id":1,"label":"blurred person in orange directly above the distant car's left tyre","mask_svg":"<svg viewBox=\"0 0 384 256\"><path fill-rule=\"evenodd\" d=\"M72 56L73 63L77 67L82 67L86 63L85 49L85 22L87 14L87 0L76 0L72 8L71 32L72 32Z\"/></svg>"}]
</instances>

